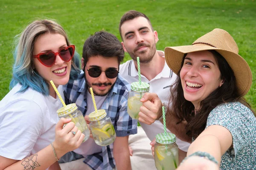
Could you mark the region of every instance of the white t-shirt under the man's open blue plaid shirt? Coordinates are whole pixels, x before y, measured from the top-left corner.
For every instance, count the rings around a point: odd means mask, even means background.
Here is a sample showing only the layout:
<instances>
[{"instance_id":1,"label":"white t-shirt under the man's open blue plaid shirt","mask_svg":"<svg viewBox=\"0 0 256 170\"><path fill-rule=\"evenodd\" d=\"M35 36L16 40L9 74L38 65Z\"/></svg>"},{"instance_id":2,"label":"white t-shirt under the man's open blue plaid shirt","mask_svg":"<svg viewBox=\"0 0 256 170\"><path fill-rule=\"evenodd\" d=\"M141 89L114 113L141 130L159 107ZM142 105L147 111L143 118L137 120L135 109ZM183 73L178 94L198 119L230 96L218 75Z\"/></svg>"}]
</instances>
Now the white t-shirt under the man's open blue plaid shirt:
<instances>
[{"instance_id":1,"label":"white t-shirt under the man's open blue plaid shirt","mask_svg":"<svg viewBox=\"0 0 256 170\"><path fill-rule=\"evenodd\" d=\"M96 106L98 109L102 107L103 102L105 101L106 96L94 96ZM87 98L87 111L85 115L89 115L94 112L93 99L91 94L86 90L86 98ZM73 150L75 153L83 155L86 157L87 155L93 155L94 153L102 152L102 147L95 143L94 139L89 138L87 141L83 142L79 148Z\"/></svg>"}]
</instances>

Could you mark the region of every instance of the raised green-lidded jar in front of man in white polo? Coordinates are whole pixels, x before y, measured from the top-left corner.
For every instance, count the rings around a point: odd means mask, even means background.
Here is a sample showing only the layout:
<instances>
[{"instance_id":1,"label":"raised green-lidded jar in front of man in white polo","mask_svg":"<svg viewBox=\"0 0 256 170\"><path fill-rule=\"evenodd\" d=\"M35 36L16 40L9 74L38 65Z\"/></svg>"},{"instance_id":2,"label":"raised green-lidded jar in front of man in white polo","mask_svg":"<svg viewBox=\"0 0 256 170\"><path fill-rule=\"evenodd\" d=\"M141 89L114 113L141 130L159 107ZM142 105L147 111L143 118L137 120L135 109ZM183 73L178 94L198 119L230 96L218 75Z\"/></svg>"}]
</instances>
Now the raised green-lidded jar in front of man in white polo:
<instances>
[{"instance_id":1,"label":"raised green-lidded jar in front of man in white polo","mask_svg":"<svg viewBox=\"0 0 256 170\"><path fill-rule=\"evenodd\" d=\"M128 105L127 112L133 119L139 119L140 106L142 102L140 99L142 96L149 91L149 84L146 82L132 82L131 91L128 94Z\"/></svg>"}]
</instances>

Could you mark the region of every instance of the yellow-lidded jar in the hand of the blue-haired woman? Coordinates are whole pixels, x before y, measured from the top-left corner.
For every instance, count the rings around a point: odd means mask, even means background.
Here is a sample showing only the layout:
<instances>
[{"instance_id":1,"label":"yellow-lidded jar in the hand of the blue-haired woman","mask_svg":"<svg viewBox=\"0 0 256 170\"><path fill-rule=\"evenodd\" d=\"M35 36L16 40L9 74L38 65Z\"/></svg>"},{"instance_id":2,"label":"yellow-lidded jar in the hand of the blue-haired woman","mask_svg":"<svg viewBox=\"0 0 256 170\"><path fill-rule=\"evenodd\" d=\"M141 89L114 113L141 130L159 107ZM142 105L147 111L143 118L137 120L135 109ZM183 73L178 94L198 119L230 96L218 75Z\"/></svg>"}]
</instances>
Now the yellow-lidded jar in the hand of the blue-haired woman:
<instances>
[{"instance_id":1,"label":"yellow-lidded jar in the hand of the blue-haired woman","mask_svg":"<svg viewBox=\"0 0 256 170\"><path fill-rule=\"evenodd\" d=\"M57 113L59 118L71 118L71 122L74 122L76 127L84 134L83 142L90 138L90 130L87 127L87 123L85 122L82 112L77 109L76 103L72 103L66 107L58 109Z\"/></svg>"}]
</instances>

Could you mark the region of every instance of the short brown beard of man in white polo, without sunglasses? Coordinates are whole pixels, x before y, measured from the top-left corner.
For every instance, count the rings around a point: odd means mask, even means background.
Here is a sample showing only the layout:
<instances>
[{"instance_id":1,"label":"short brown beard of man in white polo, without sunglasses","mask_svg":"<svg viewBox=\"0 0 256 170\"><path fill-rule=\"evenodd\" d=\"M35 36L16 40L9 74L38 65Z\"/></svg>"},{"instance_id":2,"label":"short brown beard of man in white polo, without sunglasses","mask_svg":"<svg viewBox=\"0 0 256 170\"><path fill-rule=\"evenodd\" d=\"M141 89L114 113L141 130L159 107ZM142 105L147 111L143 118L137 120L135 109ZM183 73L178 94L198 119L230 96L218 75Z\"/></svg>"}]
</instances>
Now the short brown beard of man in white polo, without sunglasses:
<instances>
[{"instance_id":1,"label":"short brown beard of man in white polo, without sunglasses","mask_svg":"<svg viewBox=\"0 0 256 170\"><path fill-rule=\"evenodd\" d=\"M136 53L136 51L140 48L140 47L149 47L149 51L147 52L146 50L143 51L139 51ZM156 53L156 43L154 42L154 44L152 46L150 46L150 44L145 44L145 43L140 43L137 45L137 47L133 50L133 51L127 51L129 53L129 55L131 56L131 58L135 61L137 61L137 57L140 57L140 63L148 63L151 62L151 60L154 57L154 54Z\"/></svg>"}]
</instances>

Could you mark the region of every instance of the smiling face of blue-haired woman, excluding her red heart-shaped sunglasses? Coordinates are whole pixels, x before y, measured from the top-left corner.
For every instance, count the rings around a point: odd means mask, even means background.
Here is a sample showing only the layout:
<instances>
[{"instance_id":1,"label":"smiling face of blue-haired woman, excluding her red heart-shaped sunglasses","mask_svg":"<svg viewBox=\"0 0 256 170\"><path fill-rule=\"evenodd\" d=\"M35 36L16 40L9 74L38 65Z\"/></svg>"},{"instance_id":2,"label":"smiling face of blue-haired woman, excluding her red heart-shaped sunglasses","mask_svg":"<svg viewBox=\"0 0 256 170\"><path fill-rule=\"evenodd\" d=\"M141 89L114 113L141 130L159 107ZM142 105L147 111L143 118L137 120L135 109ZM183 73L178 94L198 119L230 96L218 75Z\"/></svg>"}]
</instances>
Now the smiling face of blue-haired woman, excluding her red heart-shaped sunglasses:
<instances>
[{"instance_id":1,"label":"smiling face of blue-haired woman, excluding her red heart-shaped sunglasses","mask_svg":"<svg viewBox=\"0 0 256 170\"><path fill-rule=\"evenodd\" d=\"M58 52L61 48L66 48L67 42L65 37L61 34L42 34L35 41L34 55L39 53L47 53L49 51ZM51 67L47 67L37 58L34 58L35 70L38 71L41 77L46 79L49 87L52 88L52 80L56 87L58 85L67 84L70 77L71 70L71 60L69 62L64 62L59 55L56 56L55 62Z\"/></svg>"}]
</instances>

